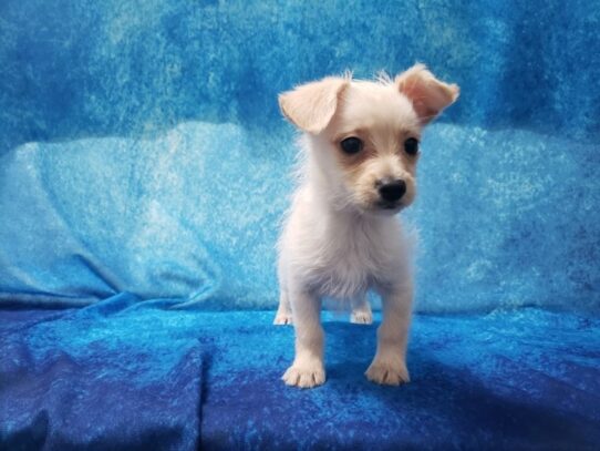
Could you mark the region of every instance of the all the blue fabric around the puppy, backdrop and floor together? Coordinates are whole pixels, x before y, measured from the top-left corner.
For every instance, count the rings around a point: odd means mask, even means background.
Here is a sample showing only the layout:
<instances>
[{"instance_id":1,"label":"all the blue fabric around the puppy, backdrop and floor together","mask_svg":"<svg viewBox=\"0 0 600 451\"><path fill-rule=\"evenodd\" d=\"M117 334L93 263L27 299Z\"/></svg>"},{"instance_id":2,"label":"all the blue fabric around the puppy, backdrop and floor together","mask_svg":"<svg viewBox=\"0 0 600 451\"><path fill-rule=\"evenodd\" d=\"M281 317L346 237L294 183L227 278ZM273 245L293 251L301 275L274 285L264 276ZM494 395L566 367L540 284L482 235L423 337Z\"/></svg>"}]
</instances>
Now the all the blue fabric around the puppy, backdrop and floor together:
<instances>
[{"instance_id":1,"label":"all the blue fabric around the puppy, backdrop and floor together","mask_svg":"<svg viewBox=\"0 0 600 451\"><path fill-rule=\"evenodd\" d=\"M600 448L599 25L597 0L0 1L0 449ZM328 317L328 383L288 389L277 93L415 61L462 95L403 213L413 382L368 383L374 326Z\"/></svg>"}]
</instances>

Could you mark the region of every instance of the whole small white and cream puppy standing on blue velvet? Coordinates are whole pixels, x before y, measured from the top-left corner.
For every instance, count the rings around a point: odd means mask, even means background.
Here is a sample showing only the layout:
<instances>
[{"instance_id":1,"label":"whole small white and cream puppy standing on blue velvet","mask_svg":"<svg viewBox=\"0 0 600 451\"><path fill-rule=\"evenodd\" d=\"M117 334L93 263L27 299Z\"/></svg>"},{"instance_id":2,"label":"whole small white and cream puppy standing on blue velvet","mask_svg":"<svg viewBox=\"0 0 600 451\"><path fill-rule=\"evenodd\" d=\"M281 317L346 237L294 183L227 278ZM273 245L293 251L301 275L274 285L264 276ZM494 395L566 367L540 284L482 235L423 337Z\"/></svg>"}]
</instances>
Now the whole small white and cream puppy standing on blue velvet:
<instances>
[{"instance_id":1,"label":"whole small white and cream puppy standing on blue velvet","mask_svg":"<svg viewBox=\"0 0 600 451\"><path fill-rule=\"evenodd\" d=\"M422 64L393 81L331 76L279 95L283 115L304 132L300 186L278 244L275 324L296 328L287 385L325 381L321 298L349 299L352 320L371 322L370 289L382 297L383 320L366 378L392 386L410 380L413 287L394 215L415 198L423 126L457 98L457 85Z\"/></svg>"}]
</instances>

